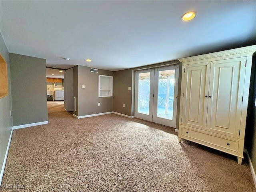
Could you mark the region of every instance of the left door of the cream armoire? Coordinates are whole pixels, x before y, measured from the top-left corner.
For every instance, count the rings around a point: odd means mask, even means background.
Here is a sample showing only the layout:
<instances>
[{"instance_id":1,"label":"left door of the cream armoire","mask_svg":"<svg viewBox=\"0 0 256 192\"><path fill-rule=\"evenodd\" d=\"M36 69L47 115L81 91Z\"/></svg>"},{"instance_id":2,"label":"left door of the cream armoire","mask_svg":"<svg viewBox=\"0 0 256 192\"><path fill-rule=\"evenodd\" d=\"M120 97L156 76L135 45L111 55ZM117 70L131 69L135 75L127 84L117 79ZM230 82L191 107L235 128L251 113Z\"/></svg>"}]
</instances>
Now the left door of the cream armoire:
<instances>
[{"instance_id":1,"label":"left door of the cream armoire","mask_svg":"<svg viewBox=\"0 0 256 192\"><path fill-rule=\"evenodd\" d=\"M210 62L185 66L182 124L206 130Z\"/></svg>"}]
</instances>

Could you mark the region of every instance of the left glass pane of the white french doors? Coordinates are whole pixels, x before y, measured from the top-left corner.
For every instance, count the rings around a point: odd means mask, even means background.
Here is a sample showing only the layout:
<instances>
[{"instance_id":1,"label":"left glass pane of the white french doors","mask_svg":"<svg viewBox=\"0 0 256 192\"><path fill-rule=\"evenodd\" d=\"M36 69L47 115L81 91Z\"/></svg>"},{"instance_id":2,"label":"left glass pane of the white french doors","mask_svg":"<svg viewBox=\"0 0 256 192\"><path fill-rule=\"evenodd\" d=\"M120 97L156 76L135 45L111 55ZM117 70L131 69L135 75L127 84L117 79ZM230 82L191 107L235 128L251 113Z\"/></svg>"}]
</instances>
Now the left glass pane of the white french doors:
<instances>
[{"instance_id":1,"label":"left glass pane of the white french doors","mask_svg":"<svg viewBox=\"0 0 256 192\"><path fill-rule=\"evenodd\" d=\"M138 113L149 115L150 72L138 75Z\"/></svg>"}]
</instances>

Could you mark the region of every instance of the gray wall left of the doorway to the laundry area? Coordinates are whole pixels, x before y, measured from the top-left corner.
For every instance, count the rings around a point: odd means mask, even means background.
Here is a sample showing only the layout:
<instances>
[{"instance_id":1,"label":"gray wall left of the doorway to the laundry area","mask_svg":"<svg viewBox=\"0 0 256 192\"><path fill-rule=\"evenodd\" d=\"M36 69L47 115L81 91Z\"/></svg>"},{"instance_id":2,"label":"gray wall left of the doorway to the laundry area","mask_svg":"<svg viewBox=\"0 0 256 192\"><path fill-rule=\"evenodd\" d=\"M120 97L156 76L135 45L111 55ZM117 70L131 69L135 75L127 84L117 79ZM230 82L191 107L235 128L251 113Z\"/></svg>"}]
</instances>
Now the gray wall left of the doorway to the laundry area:
<instances>
[{"instance_id":1,"label":"gray wall left of the doorway to the laundry area","mask_svg":"<svg viewBox=\"0 0 256 192\"><path fill-rule=\"evenodd\" d=\"M46 60L10 53L10 74L13 126L47 121Z\"/></svg>"}]
</instances>

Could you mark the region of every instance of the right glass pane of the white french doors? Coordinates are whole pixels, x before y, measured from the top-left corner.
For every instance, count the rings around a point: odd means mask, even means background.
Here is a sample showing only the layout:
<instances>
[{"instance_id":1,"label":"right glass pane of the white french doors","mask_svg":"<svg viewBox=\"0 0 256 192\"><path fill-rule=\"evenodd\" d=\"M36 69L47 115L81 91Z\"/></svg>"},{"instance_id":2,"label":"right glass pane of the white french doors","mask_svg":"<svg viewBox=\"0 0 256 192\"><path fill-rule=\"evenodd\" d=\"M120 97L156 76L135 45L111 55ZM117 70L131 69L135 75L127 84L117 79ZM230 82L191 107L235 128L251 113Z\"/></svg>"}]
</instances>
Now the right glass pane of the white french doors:
<instances>
[{"instance_id":1,"label":"right glass pane of the white french doors","mask_svg":"<svg viewBox=\"0 0 256 192\"><path fill-rule=\"evenodd\" d=\"M156 116L173 120L175 70L159 71Z\"/></svg>"}]
</instances>

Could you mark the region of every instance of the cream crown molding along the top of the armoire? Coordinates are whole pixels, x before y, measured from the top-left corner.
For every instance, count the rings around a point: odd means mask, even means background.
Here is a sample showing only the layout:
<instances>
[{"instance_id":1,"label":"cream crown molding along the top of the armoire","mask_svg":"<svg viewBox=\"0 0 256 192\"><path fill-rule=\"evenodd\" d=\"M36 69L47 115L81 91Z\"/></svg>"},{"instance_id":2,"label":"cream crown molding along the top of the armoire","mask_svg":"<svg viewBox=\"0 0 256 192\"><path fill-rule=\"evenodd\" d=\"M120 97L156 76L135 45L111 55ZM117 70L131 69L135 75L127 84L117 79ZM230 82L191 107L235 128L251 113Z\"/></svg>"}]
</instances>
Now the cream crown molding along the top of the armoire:
<instances>
[{"instance_id":1,"label":"cream crown molding along the top of the armoire","mask_svg":"<svg viewBox=\"0 0 256 192\"><path fill-rule=\"evenodd\" d=\"M234 55L236 55L236 54L240 54L240 55L238 55L238 57L250 56L255 51L256 51L256 45L252 45L252 46L247 46L247 47L242 47L242 48L219 51L219 52L215 52L215 53L208 53L208 54L203 54L203 55L198 55L198 56L181 58L178 60L184 64L186 62L197 61L197 60L206 60L206 59L216 60L216 58L223 57L223 56L233 56L233 58L234 58Z\"/></svg>"}]
</instances>

